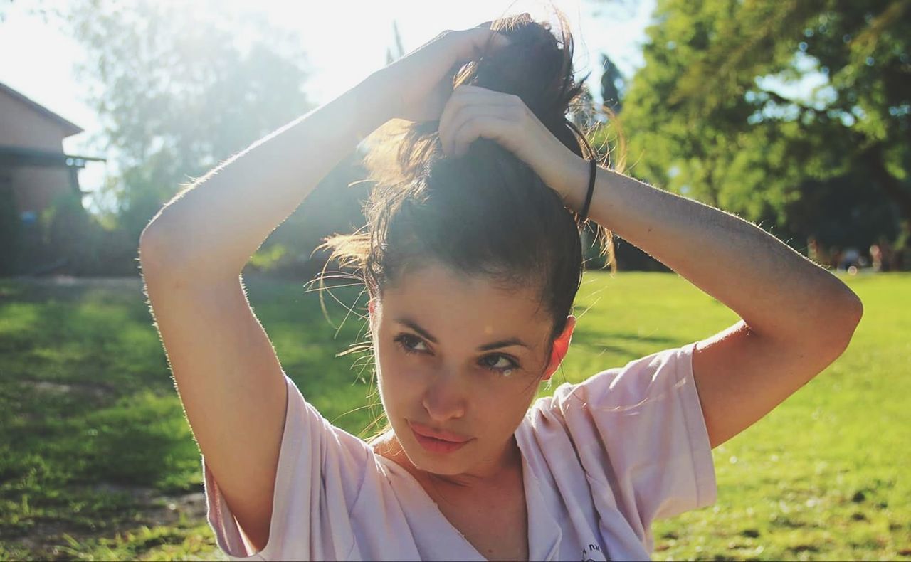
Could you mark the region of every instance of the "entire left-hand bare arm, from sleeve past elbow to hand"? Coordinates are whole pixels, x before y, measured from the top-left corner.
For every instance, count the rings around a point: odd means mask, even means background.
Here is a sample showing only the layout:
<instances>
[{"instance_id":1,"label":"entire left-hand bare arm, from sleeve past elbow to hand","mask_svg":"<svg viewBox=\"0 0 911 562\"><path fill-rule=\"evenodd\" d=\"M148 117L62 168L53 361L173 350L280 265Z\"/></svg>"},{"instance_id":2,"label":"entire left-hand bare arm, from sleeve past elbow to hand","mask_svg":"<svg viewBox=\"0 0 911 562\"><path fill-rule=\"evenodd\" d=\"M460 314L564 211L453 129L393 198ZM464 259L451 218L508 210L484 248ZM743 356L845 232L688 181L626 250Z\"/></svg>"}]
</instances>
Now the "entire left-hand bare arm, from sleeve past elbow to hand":
<instances>
[{"instance_id":1,"label":"entire left-hand bare arm, from sleeve past elbow to hand","mask_svg":"<svg viewBox=\"0 0 911 562\"><path fill-rule=\"evenodd\" d=\"M287 392L241 270L374 128L394 116L438 117L451 94L450 69L491 35L474 29L438 36L213 169L142 234L148 299L189 424L257 550L270 537Z\"/></svg>"}]
</instances>

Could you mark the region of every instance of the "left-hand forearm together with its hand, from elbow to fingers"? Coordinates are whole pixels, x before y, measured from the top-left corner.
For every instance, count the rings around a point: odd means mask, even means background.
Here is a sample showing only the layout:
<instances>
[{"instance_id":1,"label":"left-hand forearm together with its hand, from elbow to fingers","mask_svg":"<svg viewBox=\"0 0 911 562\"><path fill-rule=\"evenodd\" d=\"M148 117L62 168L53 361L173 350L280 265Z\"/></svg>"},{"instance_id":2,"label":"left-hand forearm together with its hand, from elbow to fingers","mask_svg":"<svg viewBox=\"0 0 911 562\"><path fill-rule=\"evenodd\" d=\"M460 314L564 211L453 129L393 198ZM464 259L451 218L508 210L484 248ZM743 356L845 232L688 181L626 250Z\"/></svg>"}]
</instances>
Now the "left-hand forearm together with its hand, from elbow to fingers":
<instances>
[{"instance_id":1,"label":"left-hand forearm together with its hand, from elbow to fingers","mask_svg":"<svg viewBox=\"0 0 911 562\"><path fill-rule=\"evenodd\" d=\"M484 26L443 32L211 170L149 223L143 254L167 255L197 278L240 273L271 231L375 128L391 118L439 118L455 69L508 45Z\"/></svg>"}]
</instances>

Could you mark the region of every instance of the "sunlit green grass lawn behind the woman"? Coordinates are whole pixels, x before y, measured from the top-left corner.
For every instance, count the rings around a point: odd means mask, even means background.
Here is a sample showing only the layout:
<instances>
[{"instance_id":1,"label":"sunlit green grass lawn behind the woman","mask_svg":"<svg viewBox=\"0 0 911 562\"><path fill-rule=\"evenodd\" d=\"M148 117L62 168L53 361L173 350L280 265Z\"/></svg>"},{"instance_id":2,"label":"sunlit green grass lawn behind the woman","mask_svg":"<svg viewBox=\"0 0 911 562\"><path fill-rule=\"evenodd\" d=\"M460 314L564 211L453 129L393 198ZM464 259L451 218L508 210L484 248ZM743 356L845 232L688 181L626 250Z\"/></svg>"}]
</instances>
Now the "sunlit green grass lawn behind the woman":
<instances>
[{"instance_id":1,"label":"sunlit green grass lawn behind the woman","mask_svg":"<svg viewBox=\"0 0 911 562\"><path fill-rule=\"evenodd\" d=\"M717 504L658 522L656 559L911 559L911 275L846 282L865 303L854 342L714 450ZM376 413L363 407L370 387L353 356L334 357L356 319L336 336L299 284L248 287L285 371L328 419L361 431ZM580 311L557 383L737 320L660 273L589 273ZM139 282L0 280L0 560L224 559L201 489Z\"/></svg>"}]
</instances>

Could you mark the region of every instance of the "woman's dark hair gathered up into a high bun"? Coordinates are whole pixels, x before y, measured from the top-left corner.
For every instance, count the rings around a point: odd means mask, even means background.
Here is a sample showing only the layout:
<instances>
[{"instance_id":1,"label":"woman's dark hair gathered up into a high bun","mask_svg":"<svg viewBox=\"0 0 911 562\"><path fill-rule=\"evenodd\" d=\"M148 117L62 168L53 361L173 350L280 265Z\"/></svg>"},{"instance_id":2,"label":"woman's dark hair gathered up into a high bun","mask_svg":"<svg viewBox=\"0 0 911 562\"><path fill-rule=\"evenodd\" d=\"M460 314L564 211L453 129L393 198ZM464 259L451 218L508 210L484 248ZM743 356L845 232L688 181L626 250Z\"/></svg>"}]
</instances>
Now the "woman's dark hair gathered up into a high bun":
<instances>
[{"instance_id":1,"label":"woman's dark hair gathered up into a high bun","mask_svg":"<svg viewBox=\"0 0 911 562\"><path fill-rule=\"evenodd\" d=\"M516 95L566 147L597 158L567 118L583 87L573 76L566 19L559 13L558 19L559 40L548 23L527 14L492 22L510 45L460 68L453 86ZM438 125L393 120L374 133L365 158L375 181L364 206L367 223L359 233L328 238L325 246L343 267L356 270L371 297L426 263L484 275L504 287L533 284L554 321L553 340L566 325L581 281L579 229L585 225L496 141L479 138L464 156L445 156ZM612 258L609 232L598 233Z\"/></svg>"}]
</instances>

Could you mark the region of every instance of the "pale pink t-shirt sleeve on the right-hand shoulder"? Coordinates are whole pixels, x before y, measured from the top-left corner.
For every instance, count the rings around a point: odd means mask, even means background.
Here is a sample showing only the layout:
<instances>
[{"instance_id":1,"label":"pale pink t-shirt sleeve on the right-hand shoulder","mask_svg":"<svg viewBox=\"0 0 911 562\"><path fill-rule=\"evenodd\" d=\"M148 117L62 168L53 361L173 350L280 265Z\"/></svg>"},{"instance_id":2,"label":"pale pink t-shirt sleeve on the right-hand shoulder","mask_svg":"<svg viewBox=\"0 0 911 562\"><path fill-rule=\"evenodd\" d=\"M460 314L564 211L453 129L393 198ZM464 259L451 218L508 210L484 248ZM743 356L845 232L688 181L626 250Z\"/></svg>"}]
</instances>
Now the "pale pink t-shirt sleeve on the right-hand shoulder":
<instances>
[{"instance_id":1,"label":"pale pink t-shirt sleeve on the right-hand shoulder","mask_svg":"<svg viewBox=\"0 0 911 562\"><path fill-rule=\"evenodd\" d=\"M715 503L711 445L692 373L695 346L652 353L554 393L589 481L608 486L645 536L654 519Z\"/></svg>"}]
</instances>

